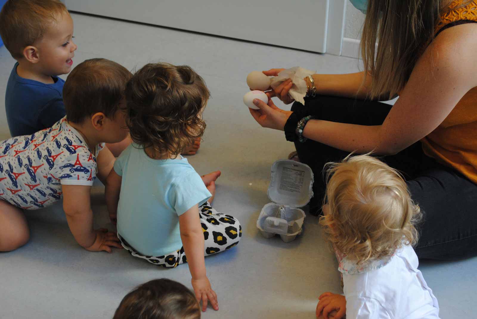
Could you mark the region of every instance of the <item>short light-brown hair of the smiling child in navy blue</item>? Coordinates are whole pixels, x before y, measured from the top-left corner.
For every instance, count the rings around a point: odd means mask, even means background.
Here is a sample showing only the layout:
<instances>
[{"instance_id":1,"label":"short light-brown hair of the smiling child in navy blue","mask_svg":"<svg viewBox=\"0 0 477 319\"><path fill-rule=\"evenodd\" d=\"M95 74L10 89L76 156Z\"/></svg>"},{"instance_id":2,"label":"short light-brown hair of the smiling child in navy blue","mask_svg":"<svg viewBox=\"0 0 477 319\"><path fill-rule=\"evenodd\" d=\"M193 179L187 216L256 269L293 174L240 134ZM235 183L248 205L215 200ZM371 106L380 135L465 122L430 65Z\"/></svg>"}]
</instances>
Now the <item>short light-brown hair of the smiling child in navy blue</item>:
<instances>
[{"instance_id":1,"label":"short light-brown hair of the smiling child in navy blue","mask_svg":"<svg viewBox=\"0 0 477 319\"><path fill-rule=\"evenodd\" d=\"M0 12L0 36L15 59L23 58L23 49L41 40L58 14L67 14L59 0L8 0Z\"/></svg>"}]
</instances>

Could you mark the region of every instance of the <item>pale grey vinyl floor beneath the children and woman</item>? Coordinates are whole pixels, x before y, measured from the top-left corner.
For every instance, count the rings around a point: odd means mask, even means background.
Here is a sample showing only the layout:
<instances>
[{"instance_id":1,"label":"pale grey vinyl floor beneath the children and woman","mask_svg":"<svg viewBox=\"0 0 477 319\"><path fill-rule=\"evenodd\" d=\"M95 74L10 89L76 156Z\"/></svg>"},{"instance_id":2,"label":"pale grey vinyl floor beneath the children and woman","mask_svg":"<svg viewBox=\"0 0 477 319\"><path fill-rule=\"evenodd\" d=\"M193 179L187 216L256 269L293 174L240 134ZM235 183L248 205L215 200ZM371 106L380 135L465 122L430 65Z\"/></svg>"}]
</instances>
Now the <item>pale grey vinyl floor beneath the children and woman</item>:
<instances>
[{"instance_id":1,"label":"pale grey vinyl floor beneath the children and woman","mask_svg":"<svg viewBox=\"0 0 477 319\"><path fill-rule=\"evenodd\" d=\"M291 243L259 234L257 217L270 202L270 166L286 158L293 144L285 141L282 132L259 127L242 96L248 92L245 78L253 70L299 65L322 73L356 72L357 60L72 16L78 44L74 65L93 57L114 60L131 70L156 61L188 64L203 76L212 93L204 113L204 142L198 154L188 159L199 174L222 171L214 207L239 218L243 237L239 246L206 258L220 310L209 308L203 318L315 318L322 292L342 292L337 262L323 240L317 217L307 216L303 234ZM1 47L0 96L13 64ZM4 139L9 134L3 98L0 101L0 138ZM103 192L101 184L93 187L95 226L114 229ZM124 295L150 279L166 277L191 287L187 265L168 270L124 250L107 254L82 249L68 229L61 203L29 212L28 220L30 242L0 254L1 319L112 318ZM439 300L442 318L477 317L477 258L422 262L420 269Z\"/></svg>"}]
</instances>

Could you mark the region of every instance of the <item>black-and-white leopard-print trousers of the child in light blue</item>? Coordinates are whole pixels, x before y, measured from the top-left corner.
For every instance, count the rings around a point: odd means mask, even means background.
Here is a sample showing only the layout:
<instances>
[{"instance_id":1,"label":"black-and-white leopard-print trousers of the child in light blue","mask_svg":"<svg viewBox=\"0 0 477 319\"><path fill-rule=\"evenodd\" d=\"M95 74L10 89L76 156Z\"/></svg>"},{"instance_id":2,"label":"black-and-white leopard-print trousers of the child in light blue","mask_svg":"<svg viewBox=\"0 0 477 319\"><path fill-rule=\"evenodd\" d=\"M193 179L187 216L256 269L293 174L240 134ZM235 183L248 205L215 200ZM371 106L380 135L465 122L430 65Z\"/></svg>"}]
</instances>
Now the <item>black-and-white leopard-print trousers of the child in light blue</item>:
<instances>
[{"instance_id":1,"label":"black-and-white leopard-print trousers of the child in light blue","mask_svg":"<svg viewBox=\"0 0 477 319\"><path fill-rule=\"evenodd\" d=\"M202 231L204 233L204 256L228 250L239 244L240 237L242 237L242 226L240 226L237 218L218 213L208 202L199 206L199 212L201 212L199 213L199 217ZM226 216L228 220L221 221L222 216ZM213 222L209 222L208 220L213 220ZM231 220L233 220L233 223L230 222ZM165 268L175 268L178 265L187 262L184 247L163 256L145 256L129 245L119 233L118 238L121 241L121 245L129 252L129 254L147 260L151 264Z\"/></svg>"}]
</instances>

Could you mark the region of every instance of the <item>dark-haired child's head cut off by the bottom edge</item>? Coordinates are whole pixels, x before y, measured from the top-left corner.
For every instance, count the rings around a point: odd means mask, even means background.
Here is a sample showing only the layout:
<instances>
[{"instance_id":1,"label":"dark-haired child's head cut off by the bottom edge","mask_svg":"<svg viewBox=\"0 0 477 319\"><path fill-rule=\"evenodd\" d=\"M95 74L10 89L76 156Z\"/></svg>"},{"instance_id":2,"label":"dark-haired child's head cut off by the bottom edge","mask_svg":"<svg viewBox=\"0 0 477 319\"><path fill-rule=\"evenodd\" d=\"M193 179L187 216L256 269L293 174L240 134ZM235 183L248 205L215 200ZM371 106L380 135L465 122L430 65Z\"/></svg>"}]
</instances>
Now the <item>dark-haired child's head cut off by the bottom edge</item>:
<instances>
[{"instance_id":1,"label":"dark-haired child's head cut off by the bottom edge","mask_svg":"<svg viewBox=\"0 0 477 319\"><path fill-rule=\"evenodd\" d=\"M124 296L113 319L199 319L194 293L170 279L155 279Z\"/></svg>"}]
</instances>

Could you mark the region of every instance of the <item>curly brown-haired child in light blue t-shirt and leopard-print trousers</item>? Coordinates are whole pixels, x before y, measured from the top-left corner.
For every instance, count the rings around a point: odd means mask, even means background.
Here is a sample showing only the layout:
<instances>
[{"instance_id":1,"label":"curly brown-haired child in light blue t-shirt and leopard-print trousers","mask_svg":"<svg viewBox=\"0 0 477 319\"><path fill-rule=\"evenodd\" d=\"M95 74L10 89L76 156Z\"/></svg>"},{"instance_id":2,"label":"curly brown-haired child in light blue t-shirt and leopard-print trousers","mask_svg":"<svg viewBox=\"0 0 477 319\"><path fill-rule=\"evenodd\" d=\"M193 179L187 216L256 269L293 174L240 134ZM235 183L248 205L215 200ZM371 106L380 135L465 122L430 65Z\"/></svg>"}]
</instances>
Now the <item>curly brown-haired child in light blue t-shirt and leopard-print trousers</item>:
<instances>
[{"instance_id":1,"label":"curly brown-haired child in light blue t-shirt and leopard-print trousers","mask_svg":"<svg viewBox=\"0 0 477 319\"><path fill-rule=\"evenodd\" d=\"M204 132L208 97L202 78L188 66L157 63L137 71L126 85L133 144L116 160L105 190L123 247L163 267L187 261L203 311L207 300L218 310L204 256L234 247L241 237L239 221L210 206L214 182L204 185L180 155Z\"/></svg>"}]
</instances>

